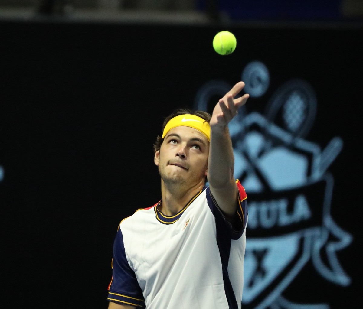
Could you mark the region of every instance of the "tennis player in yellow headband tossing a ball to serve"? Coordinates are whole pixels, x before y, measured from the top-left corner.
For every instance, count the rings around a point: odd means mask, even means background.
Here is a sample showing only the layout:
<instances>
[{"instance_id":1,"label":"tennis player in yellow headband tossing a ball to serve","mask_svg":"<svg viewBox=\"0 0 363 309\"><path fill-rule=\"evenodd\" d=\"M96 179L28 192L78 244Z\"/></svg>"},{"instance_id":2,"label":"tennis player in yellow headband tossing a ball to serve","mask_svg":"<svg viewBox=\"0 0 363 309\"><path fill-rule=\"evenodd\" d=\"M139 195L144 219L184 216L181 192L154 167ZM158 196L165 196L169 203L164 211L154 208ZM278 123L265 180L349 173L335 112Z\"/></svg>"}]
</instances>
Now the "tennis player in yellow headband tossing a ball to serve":
<instances>
[{"instance_id":1,"label":"tennis player in yellow headband tossing a ball to serve","mask_svg":"<svg viewBox=\"0 0 363 309\"><path fill-rule=\"evenodd\" d=\"M249 98L236 98L243 87L212 115L179 109L165 119L154 144L161 198L118 226L109 309L241 308L247 195L233 177L228 123Z\"/></svg>"}]
</instances>

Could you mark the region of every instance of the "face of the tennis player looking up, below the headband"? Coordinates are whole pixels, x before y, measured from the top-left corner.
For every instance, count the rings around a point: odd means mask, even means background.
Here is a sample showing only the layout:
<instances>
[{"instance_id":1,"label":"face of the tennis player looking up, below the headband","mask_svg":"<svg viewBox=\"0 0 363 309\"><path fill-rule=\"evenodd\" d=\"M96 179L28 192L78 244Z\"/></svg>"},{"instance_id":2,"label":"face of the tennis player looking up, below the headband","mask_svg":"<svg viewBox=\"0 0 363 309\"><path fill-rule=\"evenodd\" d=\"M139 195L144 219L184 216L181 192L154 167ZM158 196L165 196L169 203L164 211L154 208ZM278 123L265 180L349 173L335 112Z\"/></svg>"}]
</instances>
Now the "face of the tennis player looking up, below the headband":
<instances>
[{"instance_id":1,"label":"face of the tennis player looking up, below the headband","mask_svg":"<svg viewBox=\"0 0 363 309\"><path fill-rule=\"evenodd\" d=\"M209 141L190 127L171 129L164 138L154 161L164 183L196 185L207 176Z\"/></svg>"}]
</instances>

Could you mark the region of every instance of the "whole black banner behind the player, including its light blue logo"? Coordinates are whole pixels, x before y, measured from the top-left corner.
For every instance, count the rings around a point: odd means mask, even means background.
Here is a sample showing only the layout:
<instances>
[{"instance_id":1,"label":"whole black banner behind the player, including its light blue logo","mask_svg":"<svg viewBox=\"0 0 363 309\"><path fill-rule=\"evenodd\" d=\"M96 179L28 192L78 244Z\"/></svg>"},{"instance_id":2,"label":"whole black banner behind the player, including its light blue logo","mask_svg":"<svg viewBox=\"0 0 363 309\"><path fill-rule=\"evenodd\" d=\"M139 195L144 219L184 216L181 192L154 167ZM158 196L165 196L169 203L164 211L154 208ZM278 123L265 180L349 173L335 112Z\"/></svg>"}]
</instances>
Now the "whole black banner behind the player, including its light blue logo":
<instances>
[{"instance_id":1,"label":"whole black banner behind the player, including its light blue logo","mask_svg":"<svg viewBox=\"0 0 363 309\"><path fill-rule=\"evenodd\" d=\"M0 29L1 242L14 304L106 308L117 225L160 199L152 145L164 117L211 112L242 80L250 98L229 125L249 205L242 307L357 308L361 28ZM212 47L221 30L237 38L227 56Z\"/></svg>"}]
</instances>

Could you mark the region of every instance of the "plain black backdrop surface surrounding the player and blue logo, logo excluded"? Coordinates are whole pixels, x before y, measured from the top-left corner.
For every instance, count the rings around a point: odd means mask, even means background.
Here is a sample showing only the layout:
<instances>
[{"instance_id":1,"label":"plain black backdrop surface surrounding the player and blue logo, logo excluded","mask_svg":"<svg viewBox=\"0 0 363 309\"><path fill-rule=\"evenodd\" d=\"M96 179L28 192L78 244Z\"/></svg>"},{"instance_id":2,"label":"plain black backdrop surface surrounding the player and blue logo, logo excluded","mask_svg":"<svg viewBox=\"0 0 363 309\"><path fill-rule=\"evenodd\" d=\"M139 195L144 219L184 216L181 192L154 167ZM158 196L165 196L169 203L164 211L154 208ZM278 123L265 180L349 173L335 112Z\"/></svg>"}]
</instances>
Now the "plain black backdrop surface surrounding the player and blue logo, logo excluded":
<instances>
[{"instance_id":1,"label":"plain black backdrop surface surrounding the player and blue logo, logo excluded","mask_svg":"<svg viewBox=\"0 0 363 309\"><path fill-rule=\"evenodd\" d=\"M267 63L263 111L291 78L313 85L308 138L344 140L330 171L331 213L353 236L339 252L347 287L306 276L291 294L331 308L359 308L362 28L228 27L237 49L212 49L219 26L95 22L1 22L1 256L7 308L106 308L117 225L160 198L152 144L163 117L192 107L208 80L231 85L250 61ZM306 287L314 287L305 293ZM315 292L314 292L315 291ZM309 300L307 300L309 302ZM52 304L52 305L50 305ZM161 309L161 308L160 308Z\"/></svg>"}]
</instances>

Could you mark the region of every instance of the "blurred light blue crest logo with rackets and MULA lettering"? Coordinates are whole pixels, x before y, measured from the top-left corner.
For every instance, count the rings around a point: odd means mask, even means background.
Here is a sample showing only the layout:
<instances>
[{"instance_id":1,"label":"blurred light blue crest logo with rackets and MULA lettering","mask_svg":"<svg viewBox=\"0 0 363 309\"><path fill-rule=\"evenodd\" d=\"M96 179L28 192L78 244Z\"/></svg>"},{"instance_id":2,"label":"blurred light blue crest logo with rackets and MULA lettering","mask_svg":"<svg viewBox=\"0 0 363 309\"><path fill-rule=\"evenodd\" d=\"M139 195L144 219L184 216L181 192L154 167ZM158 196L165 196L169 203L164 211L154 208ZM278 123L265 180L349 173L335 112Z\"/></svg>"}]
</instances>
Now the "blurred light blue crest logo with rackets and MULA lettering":
<instances>
[{"instance_id":1,"label":"blurred light blue crest logo with rackets and MULA lettering","mask_svg":"<svg viewBox=\"0 0 363 309\"><path fill-rule=\"evenodd\" d=\"M267 67L258 61L242 72L251 97L269 87ZM195 108L208 111L213 96L232 88L209 81L197 92ZM234 177L248 194L243 308L328 309L329 304L295 304L283 296L308 261L317 276L342 287L351 283L337 251L352 236L331 217L334 176L328 168L343 148L339 137L321 147L305 137L314 123L317 100L302 79L284 83L270 98L265 115L244 106L229 124L235 157ZM311 279L310 279L311 280Z\"/></svg>"}]
</instances>

